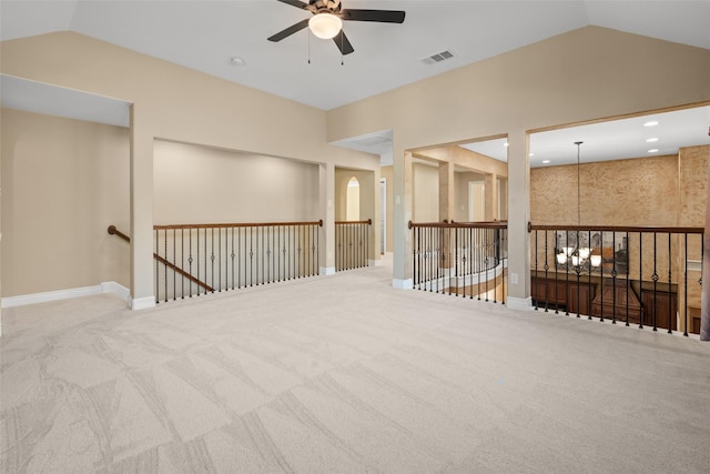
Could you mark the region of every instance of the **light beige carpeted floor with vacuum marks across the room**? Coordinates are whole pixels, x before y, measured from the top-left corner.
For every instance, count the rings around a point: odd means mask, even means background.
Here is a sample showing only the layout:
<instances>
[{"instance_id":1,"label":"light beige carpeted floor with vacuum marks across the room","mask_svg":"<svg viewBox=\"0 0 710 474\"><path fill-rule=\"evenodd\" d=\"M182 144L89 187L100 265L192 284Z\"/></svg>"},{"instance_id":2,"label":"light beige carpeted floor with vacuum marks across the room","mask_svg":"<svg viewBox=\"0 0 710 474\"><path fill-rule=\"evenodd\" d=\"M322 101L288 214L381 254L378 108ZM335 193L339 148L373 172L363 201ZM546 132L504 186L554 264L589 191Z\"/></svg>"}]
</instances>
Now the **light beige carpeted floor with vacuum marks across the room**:
<instances>
[{"instance_id":1,"label":"light beige carpeted floor with vacuum marks across the room","mask_svg":"<svg viewBox=\"0 0 710 474\"><path fill-rule=\"evenodd\" d=\"M390 274L3 310L2 472L708 472L710 344Z\"/></svg>"}]
</instances>

